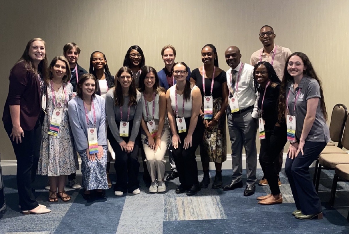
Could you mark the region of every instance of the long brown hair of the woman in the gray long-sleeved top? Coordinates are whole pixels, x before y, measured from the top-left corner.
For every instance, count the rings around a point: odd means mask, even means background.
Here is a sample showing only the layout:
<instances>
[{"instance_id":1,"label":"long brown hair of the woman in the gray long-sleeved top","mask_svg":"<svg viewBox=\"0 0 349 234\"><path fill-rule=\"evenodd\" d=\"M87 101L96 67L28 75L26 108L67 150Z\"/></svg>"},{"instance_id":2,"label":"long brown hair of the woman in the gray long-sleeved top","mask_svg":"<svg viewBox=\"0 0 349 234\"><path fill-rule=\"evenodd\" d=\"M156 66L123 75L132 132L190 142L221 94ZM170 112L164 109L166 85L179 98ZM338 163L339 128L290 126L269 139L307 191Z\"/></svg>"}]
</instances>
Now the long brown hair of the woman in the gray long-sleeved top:
<instances>
[{"instance_id":1,"label":"long brown hair of the woman in the gray long-sleeved top","mask_svg":"<svg viewBox=\"0 0 349 234\"><path fill-rule=\"evenodd\" d=\"M122 72L127 72L132 77L131 86L128 89L128 106L137 105L137 89L136 84L133 79L133 73L131 69L129 69L127 66L123 66L119 69L119 71L115 75L114 79L114 99L115 99L115 105L116 106L123 106L124 105L124 96L122 95L122 87L119 81L119 77L121 76Z\"/></svg>"}]
</instances>

